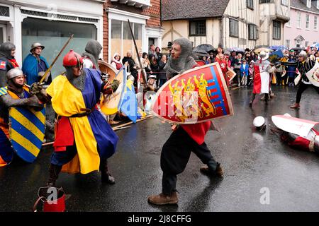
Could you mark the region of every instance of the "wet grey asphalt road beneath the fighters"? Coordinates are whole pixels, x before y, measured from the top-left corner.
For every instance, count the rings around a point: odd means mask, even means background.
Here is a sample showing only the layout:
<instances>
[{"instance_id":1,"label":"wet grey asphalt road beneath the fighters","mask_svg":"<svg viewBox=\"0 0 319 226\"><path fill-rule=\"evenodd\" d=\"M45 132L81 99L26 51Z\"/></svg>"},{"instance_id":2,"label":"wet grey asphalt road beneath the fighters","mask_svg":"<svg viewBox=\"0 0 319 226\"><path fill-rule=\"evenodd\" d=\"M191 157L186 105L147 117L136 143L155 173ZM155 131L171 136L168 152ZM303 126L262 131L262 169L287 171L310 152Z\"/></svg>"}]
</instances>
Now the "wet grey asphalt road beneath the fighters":
<instances>
[{"instance_id":1,"label":"wet grey asphalt road beneath the fighters","mask_svg":"<svg viewBox=\"0 0 319 226\"><path fill-rule=\"evenodd\" d=\"M156 207L147 196L161 191L159 155L169 137L169 124L152 118L117 131L117 153L109 160L116 184L104 185L100 176L60 174L57 186L67 194L67 211L318 211L319 155L293 150L269 131L274 114L319 121L318 94L308 89L301 109L289 109L296 88L273 87L276 97L264 105L248 107L251 88L231 90L235 116L216 120L220 132L209 131L206 143L221 162L223 179L199 172L200 160L192 154L178 176L178 206ZM267 120L266 131L255 131L254 117ZM16 159L0 168L0 211L30 211L40 186L47 180L52 149L43 150L33 164ZM262 188L269 189L269 205L262 205Z\"/></svg>"}]
</instances>

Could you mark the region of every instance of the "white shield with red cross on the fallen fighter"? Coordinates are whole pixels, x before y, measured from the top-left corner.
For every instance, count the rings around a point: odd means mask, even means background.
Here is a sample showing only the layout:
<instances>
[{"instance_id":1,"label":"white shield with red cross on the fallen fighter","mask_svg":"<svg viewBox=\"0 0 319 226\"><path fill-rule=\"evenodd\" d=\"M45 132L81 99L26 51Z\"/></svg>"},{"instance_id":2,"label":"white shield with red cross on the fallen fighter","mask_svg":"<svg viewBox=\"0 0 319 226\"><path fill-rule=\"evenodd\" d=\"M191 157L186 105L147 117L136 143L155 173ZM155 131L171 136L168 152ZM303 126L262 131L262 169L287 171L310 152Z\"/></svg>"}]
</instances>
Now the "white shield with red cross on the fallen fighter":
<instances>
[{"instance_id":1,"label":"white shield with red cross on the fallen fighter","mask_svg":"<svg viewBox=\"0 0 319 226\"><path fill-rule=\"evenodd\" d=\"M303 137L307 137L310 130L319 124L318 121L298 119L291 117L289 114L274 115L272 116L272 121L279 129Z\"/></svg>"}]
</instances>

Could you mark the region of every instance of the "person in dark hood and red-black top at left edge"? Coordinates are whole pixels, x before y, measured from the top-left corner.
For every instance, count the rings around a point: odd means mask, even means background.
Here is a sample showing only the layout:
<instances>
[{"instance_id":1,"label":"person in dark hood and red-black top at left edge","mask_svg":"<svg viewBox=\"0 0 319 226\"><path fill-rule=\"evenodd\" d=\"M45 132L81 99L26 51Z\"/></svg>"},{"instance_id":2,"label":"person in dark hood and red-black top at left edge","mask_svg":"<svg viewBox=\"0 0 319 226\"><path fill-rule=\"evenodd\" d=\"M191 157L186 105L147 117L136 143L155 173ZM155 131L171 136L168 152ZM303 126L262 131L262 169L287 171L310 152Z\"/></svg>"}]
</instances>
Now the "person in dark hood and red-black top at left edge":
<instances>
[{"instance_id":1,"label":"person in dark hood and red-black top at left edge","mask_svg":"<svg viewBox=\"0 0 319 226\"><path fill-rule=\"evenodd\" d=\"M11 42L4 42L0 45L0 87L6 86L6 73L17 68L18 63L11 54L16 46Z\"/></svg>"}]
</instances>

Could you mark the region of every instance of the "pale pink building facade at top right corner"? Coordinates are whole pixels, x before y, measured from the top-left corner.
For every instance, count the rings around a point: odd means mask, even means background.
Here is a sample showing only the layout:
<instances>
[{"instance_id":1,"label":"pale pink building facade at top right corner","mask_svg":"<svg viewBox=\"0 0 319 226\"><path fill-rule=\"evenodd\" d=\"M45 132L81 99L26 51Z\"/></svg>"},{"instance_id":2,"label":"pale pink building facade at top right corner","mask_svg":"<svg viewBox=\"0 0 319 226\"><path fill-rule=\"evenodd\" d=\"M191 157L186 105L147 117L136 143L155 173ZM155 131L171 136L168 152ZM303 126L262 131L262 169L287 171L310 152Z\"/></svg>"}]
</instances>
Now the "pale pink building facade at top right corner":
<instances>
[{"instance_id":1,"label":"pale pink building facade at top right corner","mask_svg":"<svg viewBox=\"0 0 319 226\"><path fill-rule=\"evenodd\" d=\"M291 0L290 21L284 25L284 45L308 47L319 42L319 0Z\"/></svg>"}]
</instances>

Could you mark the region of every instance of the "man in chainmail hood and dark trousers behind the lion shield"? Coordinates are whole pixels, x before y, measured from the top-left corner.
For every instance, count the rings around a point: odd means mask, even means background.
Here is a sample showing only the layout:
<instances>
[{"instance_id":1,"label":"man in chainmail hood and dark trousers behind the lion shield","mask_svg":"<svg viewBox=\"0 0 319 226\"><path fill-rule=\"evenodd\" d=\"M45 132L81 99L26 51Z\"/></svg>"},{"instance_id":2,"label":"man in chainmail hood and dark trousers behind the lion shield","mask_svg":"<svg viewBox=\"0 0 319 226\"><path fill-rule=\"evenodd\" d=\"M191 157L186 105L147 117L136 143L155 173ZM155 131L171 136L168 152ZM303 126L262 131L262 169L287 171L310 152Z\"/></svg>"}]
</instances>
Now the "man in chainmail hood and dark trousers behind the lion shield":
<instances>
[{"instance_id":1,"label":"man in chainmail hood and dark trousers behind the lion shield","mask_svg":"<svg viewBox=\"0 0 319 226\"><path fill-rule=\"evenodd\" d=\"M169 78L198 66L191 57L191 50L192 44L186 38L179 38L173 42L172 55L164 67ZM206 164L206 166L201 167L201 172L212 177L223 175L223 169L213 159L211 151L204 141L210 127L211 121L173 126L174 131L164 143L161 153L162 193L148 197L148 202L155 205L178 203L177 174L184 171L191 152L194 152L203 164Z\"/></svg>"}]
</instances>

